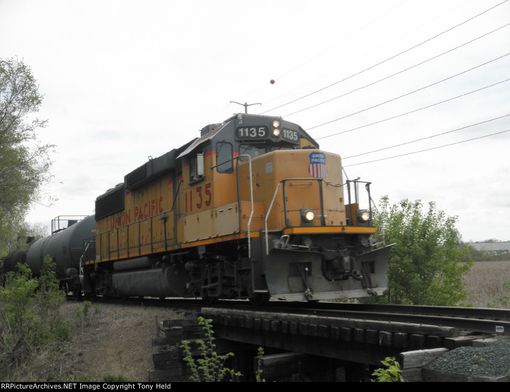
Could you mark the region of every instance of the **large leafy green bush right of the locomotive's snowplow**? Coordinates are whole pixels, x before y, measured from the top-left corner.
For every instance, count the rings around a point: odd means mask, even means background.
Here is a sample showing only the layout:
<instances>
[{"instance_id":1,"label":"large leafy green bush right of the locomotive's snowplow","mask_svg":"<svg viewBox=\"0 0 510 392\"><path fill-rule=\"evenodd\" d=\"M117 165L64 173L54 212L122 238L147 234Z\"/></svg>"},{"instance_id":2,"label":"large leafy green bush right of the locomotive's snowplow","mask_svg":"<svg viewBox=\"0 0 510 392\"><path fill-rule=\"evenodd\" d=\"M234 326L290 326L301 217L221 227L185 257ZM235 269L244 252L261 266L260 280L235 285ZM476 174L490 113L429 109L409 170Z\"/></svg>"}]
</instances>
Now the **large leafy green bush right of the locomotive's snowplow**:
<instances>
[{"instance_id":1,"label":"large leafy green bush right of the locomotive's snowplow","mask_svg":"<svg viewBox=\"0 0 510 392\"><path fill-rule=\"evenodd\" d=\"M381 198L376 226L384 223L386 243L395 243L388 266L388 290L379 302L454 306L467 298L462 276L472 261L455 228L457 217L446 216L435 203L423 212L421 202L402 200L390 206Z\"/></svg>"}]
</instances>

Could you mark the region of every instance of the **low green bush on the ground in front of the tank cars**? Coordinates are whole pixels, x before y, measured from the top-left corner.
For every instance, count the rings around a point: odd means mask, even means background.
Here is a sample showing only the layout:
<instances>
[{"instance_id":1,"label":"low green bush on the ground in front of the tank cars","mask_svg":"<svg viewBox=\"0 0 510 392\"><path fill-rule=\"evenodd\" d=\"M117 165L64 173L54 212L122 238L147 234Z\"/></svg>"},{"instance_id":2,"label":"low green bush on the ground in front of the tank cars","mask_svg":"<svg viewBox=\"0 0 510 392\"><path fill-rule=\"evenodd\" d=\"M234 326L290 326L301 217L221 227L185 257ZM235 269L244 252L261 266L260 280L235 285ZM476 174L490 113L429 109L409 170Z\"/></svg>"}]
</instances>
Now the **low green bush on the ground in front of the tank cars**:
<instances>
[{"instance_id":1,"label":"low green bush on the ground in front of the tank cars","mask_svg":"<svg viewBox=\"0 0 510 392\"><path fill-rule=\"evenodd\" d=\"M41 277L18 264L0 287L0 372L27 362L42 345L69 338L69 320L60 306L65 298L58 289L55 263L46 257Z\"/></svg>"}]
</instances>

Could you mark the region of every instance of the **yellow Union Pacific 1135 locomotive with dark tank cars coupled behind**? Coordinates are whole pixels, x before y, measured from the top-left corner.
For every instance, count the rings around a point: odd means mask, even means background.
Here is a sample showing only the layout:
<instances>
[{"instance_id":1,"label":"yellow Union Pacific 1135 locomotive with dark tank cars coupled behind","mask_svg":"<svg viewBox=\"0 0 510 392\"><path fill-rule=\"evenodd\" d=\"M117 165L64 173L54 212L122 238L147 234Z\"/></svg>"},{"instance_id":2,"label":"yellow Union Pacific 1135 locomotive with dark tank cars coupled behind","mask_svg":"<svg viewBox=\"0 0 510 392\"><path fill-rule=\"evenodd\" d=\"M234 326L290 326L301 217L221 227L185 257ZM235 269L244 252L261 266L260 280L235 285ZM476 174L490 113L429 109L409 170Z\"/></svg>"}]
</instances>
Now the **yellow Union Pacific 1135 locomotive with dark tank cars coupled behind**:
<instances>
[{"instance_id":1,"label":"yellow Union Pacific 1135 locomotive with dark tank cars coupled behind","mask_svg":"<svg viewBox=\"0 0 510 392\"><path fill-rule=\"evenodd\" d=\"M6 269L27 262L37 274L48 254L62 287L86 296L380 295L389 247L374 238L370 183L343 181L340 156L318 147L277 117L208 125L100 195L95 216L9 255Z\"/></svg>"}]
</instances>

